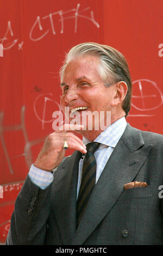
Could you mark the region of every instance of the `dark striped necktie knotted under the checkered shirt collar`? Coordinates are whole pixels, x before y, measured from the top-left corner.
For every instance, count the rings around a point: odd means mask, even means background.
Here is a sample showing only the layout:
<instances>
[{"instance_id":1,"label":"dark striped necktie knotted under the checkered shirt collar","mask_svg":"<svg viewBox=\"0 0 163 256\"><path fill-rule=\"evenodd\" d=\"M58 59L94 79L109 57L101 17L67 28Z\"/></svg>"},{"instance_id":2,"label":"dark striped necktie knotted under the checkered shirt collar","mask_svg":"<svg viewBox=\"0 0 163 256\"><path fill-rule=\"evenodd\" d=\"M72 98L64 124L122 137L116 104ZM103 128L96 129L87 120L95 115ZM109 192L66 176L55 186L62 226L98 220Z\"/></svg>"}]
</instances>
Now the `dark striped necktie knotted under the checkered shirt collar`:
<instances>
[{"instance_id":1,"label":"dark striped necktie knotted under the checkered shirt collar","mask_svg":"<svg viewBox=\"0 0 163 256\"><path fill-rule=\"evenodd\" d=\"M77 200L77 225L79 224L89 198L96 184L96 159L93 154L100 143L91 142L86 145L86 156L83 161L82 180Z\"/></svg>"}]
</instances>

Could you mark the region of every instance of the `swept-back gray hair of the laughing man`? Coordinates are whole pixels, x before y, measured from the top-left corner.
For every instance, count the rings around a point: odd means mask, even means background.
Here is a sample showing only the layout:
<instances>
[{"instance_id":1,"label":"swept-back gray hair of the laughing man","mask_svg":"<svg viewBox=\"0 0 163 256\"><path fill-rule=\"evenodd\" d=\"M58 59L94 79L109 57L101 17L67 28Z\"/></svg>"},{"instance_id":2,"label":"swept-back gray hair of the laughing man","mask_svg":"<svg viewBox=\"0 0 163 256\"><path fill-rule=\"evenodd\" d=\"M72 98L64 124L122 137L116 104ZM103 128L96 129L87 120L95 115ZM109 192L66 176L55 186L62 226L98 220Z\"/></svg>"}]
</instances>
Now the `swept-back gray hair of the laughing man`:
<instances>
[{"instance_id":1,"label":"swept-back gray hair of the laughing man","mask_svg":"<svg viewBox=\"0 0 163 256\"><path fill-rule=\"evenodd\" d=\"M132 82L128 64L122 53L108 45L97 44L96 42L86 42L71 48L66 54L63 65L60 69L60 79L62 81L67 64L79 56L97 56L99 58L98 72L106 87L113 83L124 81L127 84L128 92L122 103L126 112L126 117L130 111Z\"/></svg>"}]
</instances>

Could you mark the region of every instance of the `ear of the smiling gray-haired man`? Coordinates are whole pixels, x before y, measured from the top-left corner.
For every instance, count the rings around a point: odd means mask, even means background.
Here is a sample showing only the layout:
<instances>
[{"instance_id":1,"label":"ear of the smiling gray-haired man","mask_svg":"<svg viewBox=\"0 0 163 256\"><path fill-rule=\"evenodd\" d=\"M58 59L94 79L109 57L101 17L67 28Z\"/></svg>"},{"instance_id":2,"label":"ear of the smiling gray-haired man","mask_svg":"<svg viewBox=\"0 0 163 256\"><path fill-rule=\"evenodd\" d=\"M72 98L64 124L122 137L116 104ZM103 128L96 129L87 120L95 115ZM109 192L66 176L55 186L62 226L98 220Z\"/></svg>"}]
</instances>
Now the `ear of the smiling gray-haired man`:
<instances>
[{"instance_id":1,"label":"ear of the smiling gray-haired man","mask_svg":"<svg viewBox=\"0 0 163 256\"><path fill-rule=\"evenodd\" d=\"M115 84L115 96L112 99L112 106L117 106L121 102L123 102L124 98L127 94L127 83L124 81L118 82Z\"/></svg>"}]
</instances>

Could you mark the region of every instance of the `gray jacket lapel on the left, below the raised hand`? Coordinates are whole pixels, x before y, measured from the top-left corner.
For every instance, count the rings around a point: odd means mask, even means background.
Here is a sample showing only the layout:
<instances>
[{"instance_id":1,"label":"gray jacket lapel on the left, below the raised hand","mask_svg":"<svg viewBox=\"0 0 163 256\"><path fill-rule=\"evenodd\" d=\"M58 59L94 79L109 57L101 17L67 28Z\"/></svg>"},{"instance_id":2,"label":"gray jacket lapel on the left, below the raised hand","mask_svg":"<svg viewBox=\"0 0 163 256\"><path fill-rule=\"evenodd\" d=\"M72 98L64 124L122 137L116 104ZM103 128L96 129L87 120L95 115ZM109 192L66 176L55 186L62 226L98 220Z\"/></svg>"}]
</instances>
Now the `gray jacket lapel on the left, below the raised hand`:
<instances>
[{"instance_id":1,"label":"gray jacket lapel on the left, below the raised hand","mask_svg":"<svg viewBox=\"0 0 163 256\"><path fill-rule=\"evenodd\" d=\"M70 244L77 227L76 199L80 156L81 153L75 151L54 173L52 208L65 245Z\"/></svg>"}]
</instances>

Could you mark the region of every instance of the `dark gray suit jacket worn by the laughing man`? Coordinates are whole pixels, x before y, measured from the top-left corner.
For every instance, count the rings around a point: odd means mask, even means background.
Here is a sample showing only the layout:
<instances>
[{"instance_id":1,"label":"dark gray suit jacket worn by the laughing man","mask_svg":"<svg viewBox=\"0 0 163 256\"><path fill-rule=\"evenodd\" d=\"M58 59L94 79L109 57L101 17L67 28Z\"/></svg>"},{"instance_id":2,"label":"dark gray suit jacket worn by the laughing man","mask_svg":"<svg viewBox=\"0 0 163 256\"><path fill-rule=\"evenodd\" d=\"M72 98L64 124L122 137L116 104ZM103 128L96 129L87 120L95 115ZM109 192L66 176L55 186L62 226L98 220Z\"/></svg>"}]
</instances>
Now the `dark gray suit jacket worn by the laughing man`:
<instances>
[{"instance_id":1,"label":"dark gray suit jacket worn by the laughing man","mask_svg":"<svg viewBox=\"0 0 163 256\"><path fill-rule=\"evenodd\" d=\"M65 157L46 190L27 176L7 245L163 245L163 136L126 127L92 192L78 228L80 153ZM148 187L124 190L145 181Z\"/></svg>"}]
</instances>

